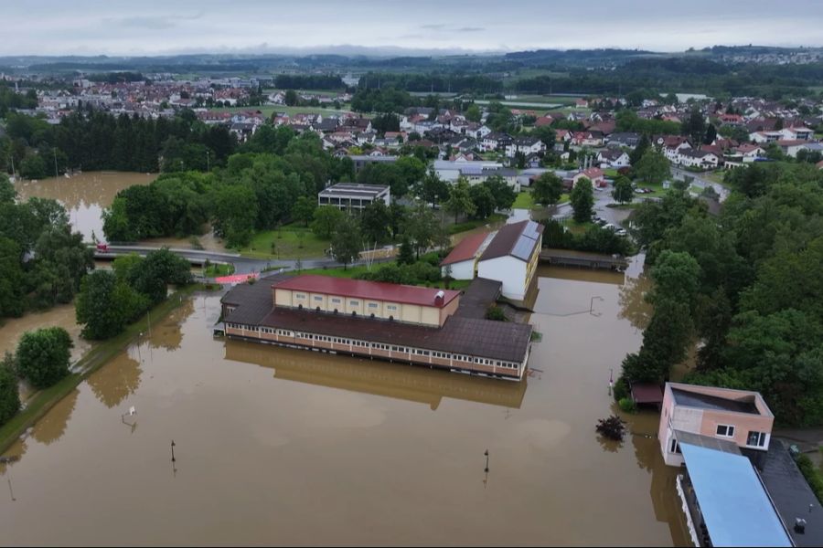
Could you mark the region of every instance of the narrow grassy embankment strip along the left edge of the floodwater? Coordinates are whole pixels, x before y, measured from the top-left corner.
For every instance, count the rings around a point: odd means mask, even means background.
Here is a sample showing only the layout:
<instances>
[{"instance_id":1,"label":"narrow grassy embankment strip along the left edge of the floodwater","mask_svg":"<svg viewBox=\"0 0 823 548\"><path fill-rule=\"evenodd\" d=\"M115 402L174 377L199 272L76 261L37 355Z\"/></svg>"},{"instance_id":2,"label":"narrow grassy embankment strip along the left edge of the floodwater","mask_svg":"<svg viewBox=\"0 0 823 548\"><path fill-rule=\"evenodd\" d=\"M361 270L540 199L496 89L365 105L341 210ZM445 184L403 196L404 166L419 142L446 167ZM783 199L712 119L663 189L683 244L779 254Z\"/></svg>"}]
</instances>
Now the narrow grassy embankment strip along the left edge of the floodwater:
<instances>
[{"instance_id":1,"label":"narrow grassy embankment strip along the left edge of the floodwater","mask_svg":"<svg viewBox=\"0 0 823 548\"><path fill-rule=\"evenodd\" d=\"M202 284L191 284L176 290L168 299L151 310L151 314L155 318L155 325L157 321L165 318L179 307L184 297L196 290L203 289L208 288ZM147 319L148 314L144 314L140 320L126 327L125 331L119 335L96 343L76 364L82 373L69 374L56 385L49 386L29 398L26 409L12 417L3 427L0 427L0 453L9 448L28 427L31 427L37 420L45 416L49 409L77 388L77 385L80 385L89 375L107 364L115 355L123 352L141 332L145 332L148 329Z\"/></svg>"}]
</instances>

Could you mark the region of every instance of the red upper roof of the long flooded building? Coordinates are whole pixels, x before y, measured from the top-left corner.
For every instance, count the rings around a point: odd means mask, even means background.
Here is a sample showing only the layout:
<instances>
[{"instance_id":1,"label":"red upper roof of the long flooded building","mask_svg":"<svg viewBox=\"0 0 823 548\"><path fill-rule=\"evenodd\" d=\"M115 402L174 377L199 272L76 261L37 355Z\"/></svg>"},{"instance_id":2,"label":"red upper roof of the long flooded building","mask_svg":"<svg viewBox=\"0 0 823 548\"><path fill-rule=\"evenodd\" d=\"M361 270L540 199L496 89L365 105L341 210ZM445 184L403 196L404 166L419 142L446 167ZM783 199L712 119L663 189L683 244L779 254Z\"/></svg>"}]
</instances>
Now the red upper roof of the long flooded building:
<instances>
[{"instance_id":1,"label":"red upper roof of the long flooded building","mask_svg":"<svg viewBox=\"0 0 823 548\"><path fill-rule=\"evenodd\" d=\"M327 295L340 295L358 299L389 300L391 302L435 306L437 308L443 308L460 295L460 291L454 290L437 290L382 281L367 281L365 279L333 278L316 274L303 274L302 276L284 279L273 284L272 287L281 290L325 293ZM439 291L443 291L444 298L442 302L436 303L435 297Z\"/></svg>"}]
</instances>

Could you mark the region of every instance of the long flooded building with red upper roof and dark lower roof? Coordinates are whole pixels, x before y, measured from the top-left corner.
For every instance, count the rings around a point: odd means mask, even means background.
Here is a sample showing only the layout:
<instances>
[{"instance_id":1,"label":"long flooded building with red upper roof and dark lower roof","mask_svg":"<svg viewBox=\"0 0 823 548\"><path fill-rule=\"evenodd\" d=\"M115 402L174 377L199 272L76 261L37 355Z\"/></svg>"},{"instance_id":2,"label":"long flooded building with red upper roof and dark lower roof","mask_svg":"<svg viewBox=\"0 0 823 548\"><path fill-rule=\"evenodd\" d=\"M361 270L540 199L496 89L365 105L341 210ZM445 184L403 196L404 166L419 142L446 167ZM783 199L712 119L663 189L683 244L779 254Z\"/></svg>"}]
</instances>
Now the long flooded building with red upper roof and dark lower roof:
<instances>
[{"instance_id":1,"label":"long flooded building with red upper roof and dark lower roof","mask_svg":"<svg viewBox=\"0 0 823 548\"><path fill-rule=\"evenodd\" d=\"M233 339L520 380L531 326L485 318L501 285L476 279L464 295L281 274L239 285L223 297L224 332Z\"/></svg>"}]
</instances>

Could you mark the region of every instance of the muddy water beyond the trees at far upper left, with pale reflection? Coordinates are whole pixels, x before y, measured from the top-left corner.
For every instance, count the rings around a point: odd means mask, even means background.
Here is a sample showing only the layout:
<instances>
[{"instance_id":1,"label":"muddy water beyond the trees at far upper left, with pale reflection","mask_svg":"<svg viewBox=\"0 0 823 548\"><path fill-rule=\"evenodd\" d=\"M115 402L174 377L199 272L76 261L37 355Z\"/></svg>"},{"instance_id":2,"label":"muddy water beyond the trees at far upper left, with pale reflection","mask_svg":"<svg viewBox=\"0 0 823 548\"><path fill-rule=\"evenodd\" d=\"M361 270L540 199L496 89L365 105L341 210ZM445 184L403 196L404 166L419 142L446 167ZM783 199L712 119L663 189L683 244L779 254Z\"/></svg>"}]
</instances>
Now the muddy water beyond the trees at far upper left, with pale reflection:
<instances>
[{"instance_id":1,"label":"muddy water beyond the trees at far upper left, with pale reflection","mask_svg":"<svg viewBox=\"0 0 823 548\"><path fill-rule=\"evenodd\" d=\"M39 181L19 181L15 189L22 199L53 198L66 207L75 230L91 241L91 233L101 240L102 210L112 205L114 195L133 184L149 184L157 174L90 172L70 178L51 177Z\"/></svg>"}]
</instances>

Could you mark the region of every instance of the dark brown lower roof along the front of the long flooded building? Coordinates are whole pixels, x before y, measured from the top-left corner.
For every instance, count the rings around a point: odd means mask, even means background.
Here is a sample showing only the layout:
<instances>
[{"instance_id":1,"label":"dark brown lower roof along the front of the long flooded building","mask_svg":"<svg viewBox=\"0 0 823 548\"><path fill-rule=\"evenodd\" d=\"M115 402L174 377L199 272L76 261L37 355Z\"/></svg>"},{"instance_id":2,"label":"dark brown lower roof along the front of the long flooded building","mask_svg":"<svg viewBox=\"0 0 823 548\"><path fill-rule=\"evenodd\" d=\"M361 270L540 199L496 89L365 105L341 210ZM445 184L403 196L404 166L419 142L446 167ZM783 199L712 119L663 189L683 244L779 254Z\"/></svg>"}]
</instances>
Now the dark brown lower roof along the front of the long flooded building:
<instances>
[{"instance_id":1,"label":"dark brown lower roof along the front of the long flooded building","mask_svg":"<svg viewBox=\"0 0 823 548\"><path fill-rule=\"evenodd\" d=\"M236 321L233 316L227 321ZM398 321L372 320L347 314L300 311L276 307L260 322L266 327L314 332L364 341L462 353L508 362L522 362L531 326L450 316L442 328Z\"/></svg>"}]
</instances>

